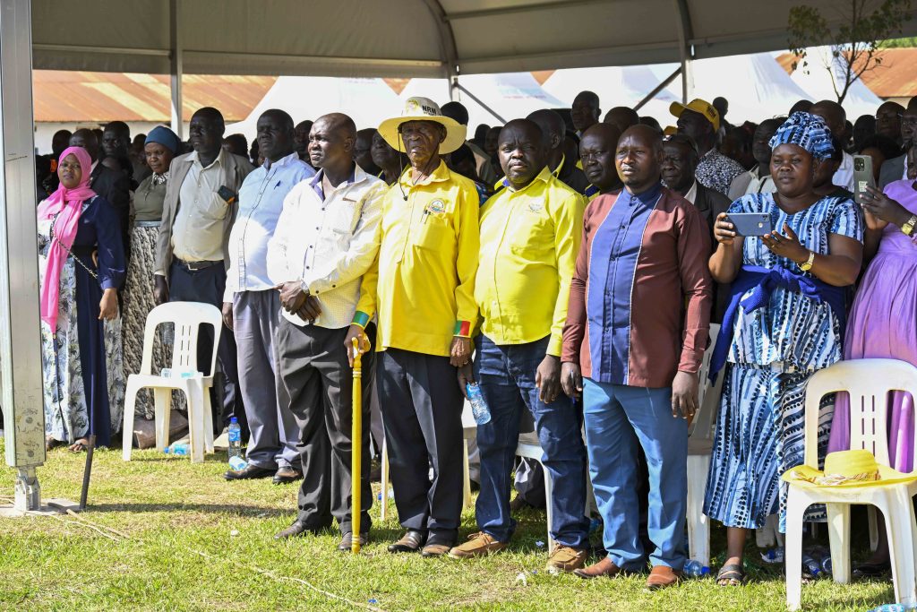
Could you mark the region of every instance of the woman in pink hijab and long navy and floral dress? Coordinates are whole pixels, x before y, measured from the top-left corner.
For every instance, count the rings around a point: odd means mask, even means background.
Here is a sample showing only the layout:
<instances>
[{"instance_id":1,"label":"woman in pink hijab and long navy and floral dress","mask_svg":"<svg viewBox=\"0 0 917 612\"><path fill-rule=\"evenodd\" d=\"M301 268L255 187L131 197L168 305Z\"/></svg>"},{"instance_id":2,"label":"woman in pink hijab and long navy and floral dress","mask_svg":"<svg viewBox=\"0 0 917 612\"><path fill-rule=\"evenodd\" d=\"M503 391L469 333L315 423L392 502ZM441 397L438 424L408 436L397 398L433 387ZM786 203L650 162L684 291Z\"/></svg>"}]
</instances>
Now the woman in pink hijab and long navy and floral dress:
<instances>
[{"instance_id":1,"label":"woman in pink hijab and long navy and floral dress","mask_svg":"<svg viewBox=\"0 0 917 612\"><path fill-rule=\"evenodd\" d=\"M83 451L90 434L108 446L124 410L124 247L116 210L89 187L89 153L64 150L57 172L61 184L38 210L45 439Z\"/></svg>"}]
</instances>

